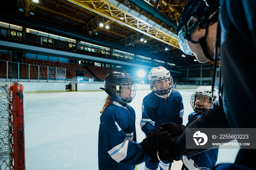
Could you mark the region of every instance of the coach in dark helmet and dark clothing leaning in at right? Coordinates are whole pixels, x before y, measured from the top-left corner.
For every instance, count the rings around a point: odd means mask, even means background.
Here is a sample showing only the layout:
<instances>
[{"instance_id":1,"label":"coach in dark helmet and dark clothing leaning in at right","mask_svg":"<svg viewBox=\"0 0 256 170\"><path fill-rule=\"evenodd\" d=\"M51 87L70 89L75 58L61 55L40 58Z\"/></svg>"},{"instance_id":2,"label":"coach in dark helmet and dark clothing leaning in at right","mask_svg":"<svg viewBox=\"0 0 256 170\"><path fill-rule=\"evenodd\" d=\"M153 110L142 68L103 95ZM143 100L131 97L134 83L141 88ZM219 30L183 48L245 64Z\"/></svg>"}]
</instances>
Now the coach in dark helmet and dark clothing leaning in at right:
<instances>
[{"instance_id":1,"label":"coach in dark helmet and dark clothing leaning in at right","mask_svg":"<svg viewBox=\"0 0 256 170\"><path fill-rule=\"evenodd\" d=\"M222 79L219 79L223 83L219 100L188 128L231 128L231 134L246 133L242 128L248 132L255 128L255 111L246 106L256 103L256 88L252 83L256 72L256 1L188 0L177 23L177 34L181 50L194 55L200 63L221 60ZM182 129L181 125L169 126ZM157 151L160 160L173 162L179 155L191 156L204 151L186 149L186 131L173 138L168 149ZM208 142L212 139L208 138ZM254 154L254 149L241 146L234 164L217 165L214 169L255 169L254 158L249 156Z\"/></svg>"}]
</instances>

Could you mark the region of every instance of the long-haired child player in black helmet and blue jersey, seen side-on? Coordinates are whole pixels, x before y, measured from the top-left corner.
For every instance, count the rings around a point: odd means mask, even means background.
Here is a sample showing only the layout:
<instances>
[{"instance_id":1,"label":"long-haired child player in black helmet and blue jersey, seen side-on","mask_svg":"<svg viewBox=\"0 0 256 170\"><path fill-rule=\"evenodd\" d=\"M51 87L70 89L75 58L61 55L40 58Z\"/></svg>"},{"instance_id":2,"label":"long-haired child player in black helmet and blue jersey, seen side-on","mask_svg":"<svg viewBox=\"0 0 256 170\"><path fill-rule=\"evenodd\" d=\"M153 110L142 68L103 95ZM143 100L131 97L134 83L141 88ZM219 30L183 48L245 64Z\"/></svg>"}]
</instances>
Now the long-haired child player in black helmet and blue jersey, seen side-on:
<instances>
[{"instance_id":1,"label":"long-haired child player in black helmet and blue jersey, seen side-on","mask_svg":"<svg viewBox=\"0 0 256 170\"><path fill-rule=\"evenodd\" d=\"M136 142L135 111L127 105L135 97L136 85L129 74L120 72L109 73L104 85L109 96L100 117L99 170L134 170L135 165L150 160Z\"/></svg>"}]
</instances>

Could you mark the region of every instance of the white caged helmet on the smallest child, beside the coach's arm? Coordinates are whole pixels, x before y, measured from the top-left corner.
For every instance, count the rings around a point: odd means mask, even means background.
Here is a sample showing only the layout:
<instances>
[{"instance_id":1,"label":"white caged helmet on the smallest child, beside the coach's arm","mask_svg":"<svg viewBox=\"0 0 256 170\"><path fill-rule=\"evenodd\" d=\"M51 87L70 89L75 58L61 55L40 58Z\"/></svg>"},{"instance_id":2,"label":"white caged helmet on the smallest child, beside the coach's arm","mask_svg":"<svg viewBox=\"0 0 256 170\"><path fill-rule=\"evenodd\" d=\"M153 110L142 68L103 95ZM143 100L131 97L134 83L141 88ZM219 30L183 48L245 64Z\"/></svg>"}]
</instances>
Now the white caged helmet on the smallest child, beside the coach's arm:
<instances>
[{"instance_id":1,"label":"white caged helmet on the smallest child, beside the coach's arm","mask_svg":"<svg viewBox=\"0 0 256 170\"><path fill-rule=\"evenodd\" d=\"M213 97L212 97L213 95ZM196 102L198 101L198 97L199 96L203 96L202 100L199 100L199 102L202 104L205 100L204 100L204 96L208 97L207 100L207 105L208 105L208 101L211 102L211 105L214 104L215 101L219 100L219 91L218 89L214 88L213 92L212 92L212 86L200 86L199 88L196 89L196 92L192 94L191 96L191 106L193 108L193 110L196 113L203 113L204 111L206 111L207 106L203 108L203 106L201 105L201 107L197 107Z\"/></svg>"}]
</instances>

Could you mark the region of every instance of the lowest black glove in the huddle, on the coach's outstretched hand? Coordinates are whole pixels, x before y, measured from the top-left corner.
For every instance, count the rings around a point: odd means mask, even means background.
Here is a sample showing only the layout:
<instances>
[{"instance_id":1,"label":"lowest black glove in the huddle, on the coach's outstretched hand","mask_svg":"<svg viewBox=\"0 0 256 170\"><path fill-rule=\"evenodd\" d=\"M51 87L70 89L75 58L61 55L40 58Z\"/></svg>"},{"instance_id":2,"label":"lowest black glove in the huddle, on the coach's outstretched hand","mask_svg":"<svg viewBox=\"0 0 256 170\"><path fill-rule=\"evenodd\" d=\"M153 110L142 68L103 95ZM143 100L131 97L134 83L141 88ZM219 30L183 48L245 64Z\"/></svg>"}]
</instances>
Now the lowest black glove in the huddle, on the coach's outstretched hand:
<instances>
[{"instance_id":1,"label":"lowest black glove in the huddle, on the coach's outstretched hand","mask_svg":"<svg viewBox=\"0 0 256 170\"><path fill-rule=\"evenodd\" d=\"M182 158L181 155L176 154L174 144L175 144L175 141L177 138L178 138L178 136L176 136L172 139L168 148L161 149L161 150L157 151L157 157L159 160L161 160L161 161L165 160L166 162L173 162L173 160L178 161L178 160L180 160L180 158Z\"/></svg>"}]
</instances>

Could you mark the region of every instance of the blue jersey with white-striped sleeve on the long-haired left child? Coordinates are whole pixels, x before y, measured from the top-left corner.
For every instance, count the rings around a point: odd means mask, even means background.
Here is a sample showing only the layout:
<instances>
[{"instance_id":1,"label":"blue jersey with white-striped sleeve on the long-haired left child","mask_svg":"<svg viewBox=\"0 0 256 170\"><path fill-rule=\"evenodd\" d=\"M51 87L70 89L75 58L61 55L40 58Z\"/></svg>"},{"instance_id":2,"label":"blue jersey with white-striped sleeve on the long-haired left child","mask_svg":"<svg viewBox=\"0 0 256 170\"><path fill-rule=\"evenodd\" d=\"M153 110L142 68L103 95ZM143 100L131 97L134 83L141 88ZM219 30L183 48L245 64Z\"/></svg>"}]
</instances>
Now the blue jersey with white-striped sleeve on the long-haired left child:
<instances>
[{"instance_id":1,"label":"blue jersey with white-striped sleeve on the long-haired left child","mask_svg":"<svg viewBox=\"0 0 256 170\"><path fill-rule=\"evenodd\" d=\"M99 170L134 170L135 165L150 159L136 142L134 109L113 101L100 117Z\"/></svg>"}]
</instances>

